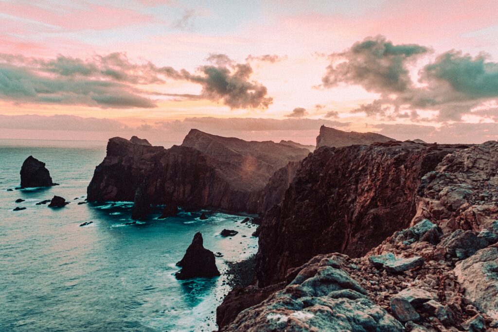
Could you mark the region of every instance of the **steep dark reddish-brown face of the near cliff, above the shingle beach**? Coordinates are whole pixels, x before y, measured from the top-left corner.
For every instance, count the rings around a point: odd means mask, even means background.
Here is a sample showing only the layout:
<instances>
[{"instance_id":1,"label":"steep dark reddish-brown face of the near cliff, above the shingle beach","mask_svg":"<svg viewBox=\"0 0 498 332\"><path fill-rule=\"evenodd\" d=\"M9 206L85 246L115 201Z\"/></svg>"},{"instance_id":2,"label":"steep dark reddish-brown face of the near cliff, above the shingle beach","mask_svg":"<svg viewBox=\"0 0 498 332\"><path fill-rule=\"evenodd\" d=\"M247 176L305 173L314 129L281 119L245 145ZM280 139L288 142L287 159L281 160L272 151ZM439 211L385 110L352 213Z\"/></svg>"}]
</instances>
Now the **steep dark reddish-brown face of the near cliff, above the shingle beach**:
<instances>
[{"instance_id":1,"label":"steep dark reddish-brown face of the near cliff, above the shingle beach","mask_svg":"<svg viewBox=\"0 0 498 332\"><path fill-rule=\"evenodd\" d=\"M422 176L454 150L401 142L316 150L262 221L259 286L281 281L317 254L363 255L408 226Z\"/></svg>"}]
</instances>

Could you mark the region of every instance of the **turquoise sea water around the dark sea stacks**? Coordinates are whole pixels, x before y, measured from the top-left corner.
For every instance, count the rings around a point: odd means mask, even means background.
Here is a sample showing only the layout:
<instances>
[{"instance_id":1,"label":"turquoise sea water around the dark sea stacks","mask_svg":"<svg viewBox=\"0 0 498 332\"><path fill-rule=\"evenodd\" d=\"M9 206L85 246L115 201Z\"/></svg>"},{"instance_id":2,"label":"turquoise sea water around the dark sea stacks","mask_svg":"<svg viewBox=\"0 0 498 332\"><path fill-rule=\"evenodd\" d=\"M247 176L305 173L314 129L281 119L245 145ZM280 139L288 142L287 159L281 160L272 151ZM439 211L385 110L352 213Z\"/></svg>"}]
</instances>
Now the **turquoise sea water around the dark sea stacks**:
<instances>
[{"instance_id":1,"label":"turquoise sea water around the dark sea stacks","mask_svg":"<svg viewBox=\"0 0 498 332\"><path fill-rule=\"evenodd\" d=\"M175 263L194 234L225 261L257 250L254 226L241 216L209 212L129 222L131 204L78 205L106 142L0 140L0 331L213 331L215 312L230 288L226 276L178 281ZM14 190L24 159L46 163L54 182ZM54 195L71 204L35 205ZM18 198L26 201L14 203ZM15 207L26 210L14 212ZM86 221L92 224L79 225ZM250 227L250 228L249 228ZM223 228L236 229L222 238ZM243 237L242 235L247 235Z\"/></svg>"}]
</instances>

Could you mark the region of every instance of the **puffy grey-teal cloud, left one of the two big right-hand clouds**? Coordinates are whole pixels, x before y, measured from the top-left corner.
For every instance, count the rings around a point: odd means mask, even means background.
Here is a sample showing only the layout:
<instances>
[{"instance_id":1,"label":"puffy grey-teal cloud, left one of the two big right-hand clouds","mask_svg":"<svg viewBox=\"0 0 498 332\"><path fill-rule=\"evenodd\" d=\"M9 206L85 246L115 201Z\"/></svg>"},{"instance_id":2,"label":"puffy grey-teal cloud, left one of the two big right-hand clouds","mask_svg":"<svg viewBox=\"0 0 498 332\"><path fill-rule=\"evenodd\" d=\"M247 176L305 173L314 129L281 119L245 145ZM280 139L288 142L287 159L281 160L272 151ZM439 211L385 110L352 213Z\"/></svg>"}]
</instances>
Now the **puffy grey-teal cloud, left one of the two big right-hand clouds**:
<instances>
[{"instance_id":1,"label":"puffy grey-teal cloud, left one of the two big right-hand clouds","mask_svg":"<svg viewBox=\"0 0 498 332\"><path fill-rule=\"evenodd\" d=\"M393 45L383 36L368 37L344 52L331 54L332 63L322 82L326 88L347 83L372 92L401 92L412 84L407 64L427 52L423 46Z\"/></svg>"}]
</instances>

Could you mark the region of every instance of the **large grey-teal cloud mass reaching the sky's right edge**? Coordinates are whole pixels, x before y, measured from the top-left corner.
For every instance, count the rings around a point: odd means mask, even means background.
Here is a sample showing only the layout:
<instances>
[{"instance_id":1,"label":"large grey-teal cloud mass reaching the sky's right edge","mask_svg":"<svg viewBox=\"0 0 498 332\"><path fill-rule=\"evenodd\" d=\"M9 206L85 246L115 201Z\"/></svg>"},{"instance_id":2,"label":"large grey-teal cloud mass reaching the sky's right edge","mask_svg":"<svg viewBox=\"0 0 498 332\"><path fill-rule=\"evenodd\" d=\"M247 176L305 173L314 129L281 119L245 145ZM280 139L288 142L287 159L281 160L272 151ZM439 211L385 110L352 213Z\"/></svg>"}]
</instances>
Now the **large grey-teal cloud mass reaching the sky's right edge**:
<instances>
[{"instance_id":1,"label":"large grey-teal cloud mass reaching the sky's right edge","mask_svg":"<svg viewBox=\"0 0 498 332\"><path fill-rule=\"evenodd\" d=\"M347 83L379 93L379 99L355 111L381 119L418 119L417 110L431 110L438 111L433 121L461 121L472 109L498 98L498 63L483 54L443 53L420 69L420 84L414 84L409 65L428 51L420 45L393 45L385 37L369 37L330 56L323 86Z\"/></svg>"}]
</instances>

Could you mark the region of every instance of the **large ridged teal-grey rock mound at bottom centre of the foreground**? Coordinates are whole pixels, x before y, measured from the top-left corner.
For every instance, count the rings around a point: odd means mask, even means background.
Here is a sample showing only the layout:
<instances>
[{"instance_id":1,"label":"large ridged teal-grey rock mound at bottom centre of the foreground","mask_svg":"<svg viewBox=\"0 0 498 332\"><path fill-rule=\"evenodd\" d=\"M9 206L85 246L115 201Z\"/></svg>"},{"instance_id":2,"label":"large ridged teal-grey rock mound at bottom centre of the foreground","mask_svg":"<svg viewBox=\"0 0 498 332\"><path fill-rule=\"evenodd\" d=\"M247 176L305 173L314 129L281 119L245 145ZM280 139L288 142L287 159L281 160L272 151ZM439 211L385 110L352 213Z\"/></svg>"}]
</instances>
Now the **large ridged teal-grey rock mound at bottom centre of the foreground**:
<instances>
[{"instance_id":1,"label":"large ridged teal-grey rock mound at bottom centre of the foreground","mask_svg":"<svg viewBox=\"0 0 498 332\"><path fill-rule=\"evenodd\" d=\"M404 331L365 298L366 291L355 280L333 266L334 256L310 261L284 290L244 310L221 331Z\"/></svg>"}]
</instances>

